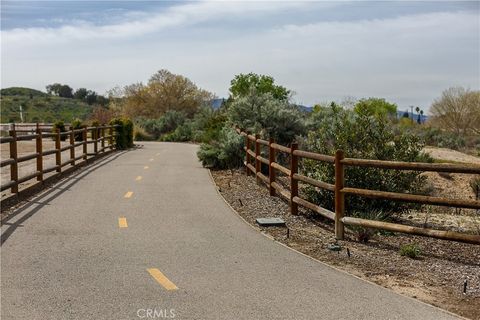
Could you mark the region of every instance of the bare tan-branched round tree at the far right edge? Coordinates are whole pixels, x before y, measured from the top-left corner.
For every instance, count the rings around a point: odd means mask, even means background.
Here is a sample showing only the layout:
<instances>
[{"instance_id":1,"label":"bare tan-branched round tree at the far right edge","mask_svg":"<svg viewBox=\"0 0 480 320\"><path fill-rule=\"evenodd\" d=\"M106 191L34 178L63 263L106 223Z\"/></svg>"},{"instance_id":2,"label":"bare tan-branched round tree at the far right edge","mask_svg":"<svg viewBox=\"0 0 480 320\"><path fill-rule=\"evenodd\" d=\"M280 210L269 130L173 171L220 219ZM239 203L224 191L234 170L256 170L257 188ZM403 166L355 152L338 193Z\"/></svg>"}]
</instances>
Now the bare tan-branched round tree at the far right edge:
<instances>
[{"instance_id":1,"label":"bare tan-branched round tree at the far right edge","mask_svg":"<svg viewBox=\"0 0 480 320\"><path fill-rule=\"evenodd\" d=\"M441 129L462 135L480 133L480 91L449 88L433 102L430 112Z\"/></svg>"}]
</instances>

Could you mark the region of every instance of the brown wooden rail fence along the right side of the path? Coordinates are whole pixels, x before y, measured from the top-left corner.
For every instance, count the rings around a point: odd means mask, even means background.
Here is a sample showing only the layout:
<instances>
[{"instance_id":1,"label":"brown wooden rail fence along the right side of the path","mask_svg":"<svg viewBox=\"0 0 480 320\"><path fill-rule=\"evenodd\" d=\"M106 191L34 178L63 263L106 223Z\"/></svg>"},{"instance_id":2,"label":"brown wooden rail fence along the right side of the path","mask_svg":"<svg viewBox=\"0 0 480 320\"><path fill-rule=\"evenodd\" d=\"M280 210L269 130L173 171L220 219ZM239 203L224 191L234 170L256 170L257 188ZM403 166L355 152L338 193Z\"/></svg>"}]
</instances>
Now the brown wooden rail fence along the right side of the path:
<instances>
[{"instance_id":1,"label":"brown wooden rail fence along the right side of the path","mask_svg":"<svg viewBox=\"0 0 480 320\"><path fill-rule=\"evenodd\" d=\"M245 137L246 152L245 170L246 174L253 173L257 182L263 182L269 189L270 195L279 195L288 201L290 212L293 215L298 214L298 206L302 206L312 210L323 217L335 222L335 237L339 240L344 239L345 225L361 226L365 228L382 229L394 232L403 232L426 237L433 237L445 240L453 240L459 242L480 244L480 235L466 234L453 231L434 230L428 228L418 228L396 223L388 223L377 220L368 220L345 216L345 198L347 195L357 195L366 198L388 199L394 201L404 201L420 204L431 204L439 206L449 206L456 208L480 209L480 201L449 199L442 197L431 197L423 195L385 192L378 190L367 190L359 188L350 188L345 186L345 167L371 167L392 170L409 170L409 171L432 171L432 172L449 172L449 173L465 173L480 174L480 166L475 164L443 164L443 163L420 163L420 162L400 162L400 161L380 161L345 158L343 151L337 150L335 156L323 155L314 152L308 152L298 149L296 143L292 143L290 147L282 146L273 139L269 141L262 140L258 135L248 134L241 129L236 129L237 133ZM252 150L252 146L254 150ZM261 146L266 146L268 159L262 157ZM277 153L283 152L290 155L290 168L282 166L276 162ZM265 154L265 153L263 153ZM313 178L302 175L298 172L298 163L301 158L321 161L332 164L335 167L335 184L318 181ZM253 164L252 164L253 163ZM262 173L261 165L268 165L268 177ZM284 188L280 183L276 182L276 172L279 171L288 177L290 190ZM322 208L306 199L302 199L298 194L298 183L306 183L317 188L334 192L335 210L330 211Z\"/></svg>"}]
</instances>

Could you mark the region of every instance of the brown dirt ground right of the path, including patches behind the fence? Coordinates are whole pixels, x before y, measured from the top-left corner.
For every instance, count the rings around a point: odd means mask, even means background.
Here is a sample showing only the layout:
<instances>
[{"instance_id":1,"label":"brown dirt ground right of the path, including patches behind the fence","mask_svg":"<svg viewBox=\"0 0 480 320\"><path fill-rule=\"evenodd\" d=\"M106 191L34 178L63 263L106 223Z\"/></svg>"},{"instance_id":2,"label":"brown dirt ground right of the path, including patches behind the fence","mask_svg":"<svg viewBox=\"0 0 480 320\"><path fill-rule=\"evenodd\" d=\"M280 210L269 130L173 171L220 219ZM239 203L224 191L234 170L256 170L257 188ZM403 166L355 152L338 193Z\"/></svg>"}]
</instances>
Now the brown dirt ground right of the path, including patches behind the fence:
<instances>
[{"instance_id":1,"label":"brown dirt ground right of the path, including patches behind the fence","mask_svg":"<svg viewBox=\"0 0 480 320\"><path fill-rule=\"evenodd\" d=\"M437 159L480 163L479 158L453 150L429 148L428 151ZM453 179L437 173L428 175L431 175L428 181L435 195L474 199L468 186L472 175L454 174ZM355 230L349 229L345 241L336 241L330 221L303 209L298 216L290 215L285 201L270 197L265 186L257 185L244 170L212 171L212 176L225 200L248 223L277 241L398 293L467 318L480 319L480 246L386 232L376 233L364 243L358 241ZM260 227L255 221L260 217L280 217L288 228ZM400 219L407 224L480 233L480 214L475 210L443 210L430 206ZM329 245L334 243L341 246L341 251L329 250ZM421 248L417 259L399 253L403 245L411 243Z\"/></svg>"}]
</instances>

